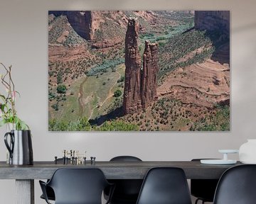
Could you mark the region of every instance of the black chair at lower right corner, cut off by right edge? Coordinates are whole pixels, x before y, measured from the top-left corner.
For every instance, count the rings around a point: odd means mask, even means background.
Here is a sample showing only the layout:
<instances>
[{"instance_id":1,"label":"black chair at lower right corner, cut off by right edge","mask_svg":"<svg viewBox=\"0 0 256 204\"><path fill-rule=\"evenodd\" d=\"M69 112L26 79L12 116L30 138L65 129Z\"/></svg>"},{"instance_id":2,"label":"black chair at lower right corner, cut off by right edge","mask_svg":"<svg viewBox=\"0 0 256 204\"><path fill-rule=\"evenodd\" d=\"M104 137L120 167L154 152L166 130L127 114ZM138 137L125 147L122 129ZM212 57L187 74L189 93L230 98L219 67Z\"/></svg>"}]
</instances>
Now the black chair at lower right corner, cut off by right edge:
<instances>
[{"instance_id":1,"label":"black chair at lower right corner, cut off by right edge","mask_svg":"<svg viewBox=\"0 0 256 204\"><path fill-rule=\"evenodd\" d=\"M234 166L220 177L214 204L255 204L256 165Z\"/></svg>"}]
</instances>

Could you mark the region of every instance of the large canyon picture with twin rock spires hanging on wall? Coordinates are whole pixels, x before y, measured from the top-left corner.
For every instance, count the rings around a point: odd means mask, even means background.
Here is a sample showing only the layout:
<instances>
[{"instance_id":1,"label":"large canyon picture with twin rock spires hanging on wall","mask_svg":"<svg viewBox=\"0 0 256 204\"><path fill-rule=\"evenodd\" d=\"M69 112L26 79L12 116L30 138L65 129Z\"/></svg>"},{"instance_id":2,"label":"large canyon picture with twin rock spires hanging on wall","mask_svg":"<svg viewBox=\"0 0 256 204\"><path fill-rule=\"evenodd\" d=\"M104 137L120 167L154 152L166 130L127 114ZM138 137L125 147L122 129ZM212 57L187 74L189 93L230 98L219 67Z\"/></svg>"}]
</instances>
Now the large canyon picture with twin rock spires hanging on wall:
<instances>
[{"instance_id":1,"label":"large canyon picture with twin rock spires hanging on wall","mask_svg":"<svg viewBox=\"0 0 256 204\"><path fill-rule=\"evenodd\" d=\"M48 11L48 130L230 131L230 11Z\"/></svg>"}]
</instances>

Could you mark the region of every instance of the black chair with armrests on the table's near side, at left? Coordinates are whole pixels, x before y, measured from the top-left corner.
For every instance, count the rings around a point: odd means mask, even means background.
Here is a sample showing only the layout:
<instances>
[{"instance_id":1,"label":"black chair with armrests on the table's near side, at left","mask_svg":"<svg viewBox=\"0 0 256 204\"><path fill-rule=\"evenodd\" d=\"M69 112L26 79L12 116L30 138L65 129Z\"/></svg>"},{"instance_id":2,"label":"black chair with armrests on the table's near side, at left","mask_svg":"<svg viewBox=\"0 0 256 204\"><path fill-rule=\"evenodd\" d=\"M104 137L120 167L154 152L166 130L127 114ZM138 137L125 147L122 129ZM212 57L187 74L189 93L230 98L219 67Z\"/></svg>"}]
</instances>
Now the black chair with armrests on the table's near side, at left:
<instances>
[{"instance_id":1,"label":"black chair with armrests on the table's near side, at left","mask_svg":"<svg viewBox=\"0 0 256 204\"><path fill-rule=\"evenodd\" d=\"M57 169L50 181L39 183L46 203L49 204L46 186L53 188L55 204L101 204L102 191L111 186L100 169Z\"/></svg>"}]
</instances>

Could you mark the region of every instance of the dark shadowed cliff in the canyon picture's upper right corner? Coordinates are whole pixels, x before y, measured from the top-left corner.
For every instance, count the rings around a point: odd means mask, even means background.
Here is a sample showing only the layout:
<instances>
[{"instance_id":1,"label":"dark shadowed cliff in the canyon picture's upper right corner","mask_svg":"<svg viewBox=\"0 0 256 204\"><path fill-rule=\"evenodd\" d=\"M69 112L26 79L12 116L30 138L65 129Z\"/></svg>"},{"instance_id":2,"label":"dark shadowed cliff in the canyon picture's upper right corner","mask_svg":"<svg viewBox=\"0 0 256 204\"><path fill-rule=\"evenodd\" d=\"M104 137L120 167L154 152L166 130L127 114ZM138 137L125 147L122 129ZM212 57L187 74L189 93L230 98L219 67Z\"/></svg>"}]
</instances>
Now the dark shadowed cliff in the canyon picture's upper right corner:
<instances>
[{"instance_id":1,"label":"dark shadowed cliff in the canyon picture's upper right corner","mask_svg":"<svg viewBox=\"0 0 256 204\"><path fill-rule=\"evenodd\" d=\"M195 28L198 30L220 30L229 35L230 11L195 11Z\"/></svg>"}]
</instances>

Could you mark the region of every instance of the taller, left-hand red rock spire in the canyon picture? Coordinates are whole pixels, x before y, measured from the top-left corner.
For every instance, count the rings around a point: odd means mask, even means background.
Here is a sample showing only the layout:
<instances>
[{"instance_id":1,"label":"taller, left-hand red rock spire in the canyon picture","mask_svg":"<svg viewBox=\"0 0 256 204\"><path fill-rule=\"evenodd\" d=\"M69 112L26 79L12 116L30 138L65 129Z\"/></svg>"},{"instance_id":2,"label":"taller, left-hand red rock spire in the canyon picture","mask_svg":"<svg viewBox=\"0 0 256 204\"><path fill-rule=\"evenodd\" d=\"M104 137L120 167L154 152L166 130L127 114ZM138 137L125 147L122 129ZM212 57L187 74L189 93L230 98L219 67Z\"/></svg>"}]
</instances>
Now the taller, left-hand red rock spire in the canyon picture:
<instances>
[{"instance_id":1,"label":"taller, left-hand red rock spire in the canyon picture","mask_svg":"<svg viewBox=\"0 0 256 204\"><path fill-rule=\"evenodd\" d=\"M136 18L129 18L125 36L125 80L124 114L134 113L142 108L141 101L141 57L139 55L138 31Z\"/></svg>"}]
</instances>

